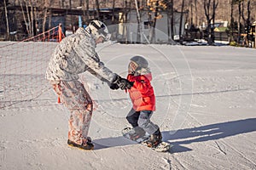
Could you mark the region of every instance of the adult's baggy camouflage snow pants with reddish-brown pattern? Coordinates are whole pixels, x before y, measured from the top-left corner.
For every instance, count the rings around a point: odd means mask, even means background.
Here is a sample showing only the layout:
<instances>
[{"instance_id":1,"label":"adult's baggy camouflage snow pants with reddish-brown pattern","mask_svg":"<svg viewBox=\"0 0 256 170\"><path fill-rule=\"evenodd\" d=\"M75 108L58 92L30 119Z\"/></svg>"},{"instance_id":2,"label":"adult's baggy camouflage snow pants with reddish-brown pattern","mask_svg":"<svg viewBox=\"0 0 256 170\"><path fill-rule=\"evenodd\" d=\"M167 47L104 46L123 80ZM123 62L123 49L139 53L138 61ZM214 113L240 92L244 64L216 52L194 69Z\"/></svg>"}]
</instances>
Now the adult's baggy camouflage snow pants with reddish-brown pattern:
<instances>
[{"instance_id":1,"label":"adult's baggy camouflage snow pants with reddish-brown pattern","mask_svg":"<svg viewBox=\"0 0 256 170\"><path fill-rule=\"evenodd\" d=\"M92 116L92 100L78 80L51 82L61 103L70 111L68 139L76 144L85 144Z\"/></svg>"}]
</instances>

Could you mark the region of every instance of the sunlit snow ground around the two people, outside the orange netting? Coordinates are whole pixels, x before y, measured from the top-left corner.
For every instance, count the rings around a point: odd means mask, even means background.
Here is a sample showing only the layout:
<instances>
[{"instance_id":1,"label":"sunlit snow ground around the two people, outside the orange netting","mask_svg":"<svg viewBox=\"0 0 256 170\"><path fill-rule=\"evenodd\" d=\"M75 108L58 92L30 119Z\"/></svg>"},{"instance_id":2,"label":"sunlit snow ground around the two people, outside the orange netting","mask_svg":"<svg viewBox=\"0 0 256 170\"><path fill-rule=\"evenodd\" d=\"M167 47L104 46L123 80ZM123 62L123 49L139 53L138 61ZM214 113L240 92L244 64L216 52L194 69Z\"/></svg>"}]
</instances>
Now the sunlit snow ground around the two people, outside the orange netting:
<instances>
[{"instance_id":1,"label":"sunlit snow ground around the two people, outside the orange netting","mask_svg":"<svg viewBox=\"0 0 256 170\"><path fill-rule=\"evenodd\" d=\"M123 77L131 56L148 59L157 102L152 121L174 145L170 152L124 139L128 95L84 73L95 103L89 132L95 150L67 145L69 113L47 88L0 110L0 169L256 169L255 49L104 43L97 50Z\"/></svg>"}]
</instances>

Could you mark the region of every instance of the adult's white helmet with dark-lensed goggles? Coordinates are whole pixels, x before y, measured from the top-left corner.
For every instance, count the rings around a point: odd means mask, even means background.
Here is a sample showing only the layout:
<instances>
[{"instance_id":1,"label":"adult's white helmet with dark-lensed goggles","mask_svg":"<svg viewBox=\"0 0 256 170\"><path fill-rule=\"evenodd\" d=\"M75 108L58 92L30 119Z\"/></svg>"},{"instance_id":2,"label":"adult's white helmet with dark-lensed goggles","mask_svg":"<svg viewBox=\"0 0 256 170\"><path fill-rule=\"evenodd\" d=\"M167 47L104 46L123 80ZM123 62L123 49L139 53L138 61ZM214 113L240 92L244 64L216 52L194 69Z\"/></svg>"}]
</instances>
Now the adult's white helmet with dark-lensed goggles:
<instances>
[{"instance_id":1,"label":"adult's white helmet with dark-lensed goggles","mask_svg":"<svg viewBox=\"0 0 256 170\"><path fill-rule=\"evenodd\" d=\"M93 35L95 39L99 37L103 37L105 41L108 41L110 39L108 27L102 21L92 20L88 28L90 28L90 33Z\"/></svg>"}]
</instances>

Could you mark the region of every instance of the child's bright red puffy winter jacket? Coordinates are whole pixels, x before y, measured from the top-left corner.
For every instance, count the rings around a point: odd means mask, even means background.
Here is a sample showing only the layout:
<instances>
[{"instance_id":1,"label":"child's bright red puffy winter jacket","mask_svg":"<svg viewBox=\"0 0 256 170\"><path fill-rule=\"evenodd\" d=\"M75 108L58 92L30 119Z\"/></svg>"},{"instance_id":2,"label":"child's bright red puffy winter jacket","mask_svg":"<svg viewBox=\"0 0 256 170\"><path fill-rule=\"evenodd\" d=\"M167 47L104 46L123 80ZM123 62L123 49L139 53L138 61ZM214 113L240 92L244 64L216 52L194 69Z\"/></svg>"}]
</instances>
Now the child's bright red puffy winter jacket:
<instances>
[{"instance_id":1,"label":"child's bright red puffy winter jacket","mask_svg":"<svg viewBox=\"0 0 256 170\"><path fill-rule=\"evenodd\" d=\"M155 111L154 88L151 86L151 73L134 77L128 75L127 79L134 82L133 87L128 90L135 111Z\"/></svg>"}]
</instances>

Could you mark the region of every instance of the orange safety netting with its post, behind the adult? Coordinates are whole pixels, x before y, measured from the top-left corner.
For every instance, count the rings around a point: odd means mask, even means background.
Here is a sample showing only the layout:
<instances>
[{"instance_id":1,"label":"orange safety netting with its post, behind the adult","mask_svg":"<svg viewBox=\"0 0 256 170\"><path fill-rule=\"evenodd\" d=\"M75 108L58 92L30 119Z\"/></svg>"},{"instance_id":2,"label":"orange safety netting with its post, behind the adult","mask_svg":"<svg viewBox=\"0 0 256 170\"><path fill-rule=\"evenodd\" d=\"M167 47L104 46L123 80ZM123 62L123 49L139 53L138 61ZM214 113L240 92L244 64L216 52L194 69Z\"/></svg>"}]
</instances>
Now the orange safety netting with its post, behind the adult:
<instances>
[{"instance_id":1,"label":"orange safety netting with its post, behind the adult","mask_svg":"<svg viewBox=\"0 0 256 170\"><path fill-rule=\"evenodd\" d=\"M49 89L44 74L63 37L56 26L21 42L0 42L0 109L37 99Z\"/></svg>"}]
</instances>

